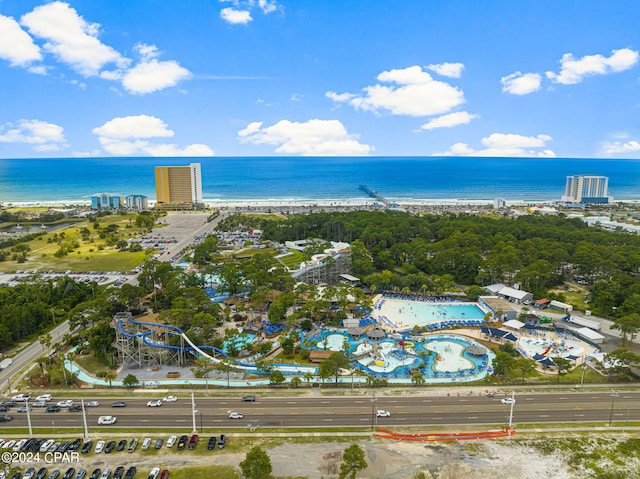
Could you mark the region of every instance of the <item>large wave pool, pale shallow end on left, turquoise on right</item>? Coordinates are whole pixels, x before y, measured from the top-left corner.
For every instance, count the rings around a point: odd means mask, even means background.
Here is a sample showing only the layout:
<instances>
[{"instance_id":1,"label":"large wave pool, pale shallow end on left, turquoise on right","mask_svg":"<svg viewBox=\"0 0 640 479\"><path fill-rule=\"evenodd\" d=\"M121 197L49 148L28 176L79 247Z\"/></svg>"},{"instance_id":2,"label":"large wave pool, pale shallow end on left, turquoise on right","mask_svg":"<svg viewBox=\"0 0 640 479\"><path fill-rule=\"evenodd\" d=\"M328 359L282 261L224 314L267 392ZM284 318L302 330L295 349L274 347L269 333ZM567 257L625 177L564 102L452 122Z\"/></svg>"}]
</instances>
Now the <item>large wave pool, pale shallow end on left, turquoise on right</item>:
<instances>
[{"instance_id":1,"label":"large wave pool, pale shallow end on left, turquoise on right","mask_svg":"<svg viewBox=\"0 0 640 479\"><path fill-rule=\"evenodd\" d=\"M374 315L387 328L405 329L414 326L484 324L486 312L476 303L412 301L383 298L374 308Z\"/></svg>"}]
</instances>

